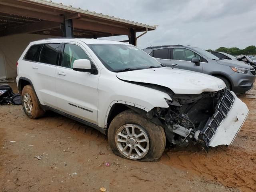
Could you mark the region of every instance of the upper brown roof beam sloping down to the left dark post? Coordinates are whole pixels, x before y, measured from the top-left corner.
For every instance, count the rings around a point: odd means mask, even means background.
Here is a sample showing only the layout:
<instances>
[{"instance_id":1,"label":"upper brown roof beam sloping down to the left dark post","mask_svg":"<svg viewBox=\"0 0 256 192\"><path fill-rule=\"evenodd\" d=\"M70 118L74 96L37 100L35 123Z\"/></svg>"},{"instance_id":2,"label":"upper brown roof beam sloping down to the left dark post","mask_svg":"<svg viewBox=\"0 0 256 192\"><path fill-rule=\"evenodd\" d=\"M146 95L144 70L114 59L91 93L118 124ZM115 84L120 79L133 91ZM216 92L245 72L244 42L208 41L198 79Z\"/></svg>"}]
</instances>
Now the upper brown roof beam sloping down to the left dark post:
<instances>
[{"instance_id":1,"label":"upper brown roof beam sloping down to the left dark post","mask_svg":"<svg viewBox=\"0 0 256 192\"><path fill-rule=\"evenodd\" d=\"M13 15L20 15L20 16L26 16L31 18L37 18L41 20L47 20L47 21L53 21L53 22L64 22L63 16L58 15L50 15L45 14L42 12L32 11L32 10L26 10L21 9L17 7L7 6L7 5L1 5L0 6L0 13L8 13Z\"/></svg>"}]
</instances>

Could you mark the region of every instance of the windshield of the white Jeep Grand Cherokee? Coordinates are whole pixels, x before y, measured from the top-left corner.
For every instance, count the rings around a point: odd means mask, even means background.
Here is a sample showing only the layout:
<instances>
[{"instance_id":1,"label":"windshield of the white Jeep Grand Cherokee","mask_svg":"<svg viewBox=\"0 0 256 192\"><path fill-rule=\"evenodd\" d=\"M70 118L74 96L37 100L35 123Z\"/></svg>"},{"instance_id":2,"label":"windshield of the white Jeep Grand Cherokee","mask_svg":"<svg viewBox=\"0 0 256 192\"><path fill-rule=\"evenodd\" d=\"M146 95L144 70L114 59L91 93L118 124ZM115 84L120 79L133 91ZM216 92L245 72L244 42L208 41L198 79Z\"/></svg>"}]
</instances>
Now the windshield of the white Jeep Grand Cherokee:
<instances>
[{"instance_id":1,"label":"windshield of the white Jeep Grand Cherokee","mask_svg":"<svg viewBox=\"0 0 256 192\"><path fill-rule=\"evenodd\" d=\"M88 44L88 46L112 72L162 67L144 51L129 44Z\"/></svg>"}]
</instances>

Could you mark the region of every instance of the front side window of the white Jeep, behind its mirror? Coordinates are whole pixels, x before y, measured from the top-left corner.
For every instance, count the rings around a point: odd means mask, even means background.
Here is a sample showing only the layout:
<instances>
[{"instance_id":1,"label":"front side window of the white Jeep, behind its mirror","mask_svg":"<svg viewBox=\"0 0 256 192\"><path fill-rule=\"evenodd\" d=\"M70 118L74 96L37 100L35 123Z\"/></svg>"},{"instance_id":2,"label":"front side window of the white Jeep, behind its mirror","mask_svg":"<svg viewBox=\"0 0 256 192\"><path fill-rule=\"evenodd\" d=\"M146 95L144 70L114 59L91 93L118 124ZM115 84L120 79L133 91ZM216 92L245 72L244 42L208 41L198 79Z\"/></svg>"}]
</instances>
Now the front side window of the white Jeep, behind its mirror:
<instances>
[{"instance_id":1,"label":"front side window of the white Jeep, behind its mirror","mask_svg":"<svg viewBox=\"0 0 256 192\"><path fill-rule=\"evenodd\" d=\"M65 44L63 58L62 58L62 67L73 68L74 61L77 59L88 59L88 55L80 48L78 45L74 44ZM91 64L92 61L90 60Z\"/></svg>"}]
</instances>

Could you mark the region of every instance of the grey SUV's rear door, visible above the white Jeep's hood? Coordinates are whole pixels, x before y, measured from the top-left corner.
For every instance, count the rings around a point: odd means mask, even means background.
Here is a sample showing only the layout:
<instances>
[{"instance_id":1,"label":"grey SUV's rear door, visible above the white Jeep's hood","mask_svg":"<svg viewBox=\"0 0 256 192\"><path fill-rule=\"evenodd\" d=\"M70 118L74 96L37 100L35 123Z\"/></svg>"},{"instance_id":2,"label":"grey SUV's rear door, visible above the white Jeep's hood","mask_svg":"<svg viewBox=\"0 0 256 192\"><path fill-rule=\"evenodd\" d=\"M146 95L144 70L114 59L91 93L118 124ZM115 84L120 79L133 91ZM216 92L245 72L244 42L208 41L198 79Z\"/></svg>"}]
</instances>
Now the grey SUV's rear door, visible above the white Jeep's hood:
<instances>
[{"instance_id":1,"label":"grey SUV's rear door, visible above the white Jeep's hood","mask_svg":"<svg viewBox=\"0 0 256 192\"><path fill-rule=\"evenodd\" d=\"M170 48L156 49L150 52L149 55L156 58L156 60L164 66L170 67Z\"/></svg>"}]
</instances>

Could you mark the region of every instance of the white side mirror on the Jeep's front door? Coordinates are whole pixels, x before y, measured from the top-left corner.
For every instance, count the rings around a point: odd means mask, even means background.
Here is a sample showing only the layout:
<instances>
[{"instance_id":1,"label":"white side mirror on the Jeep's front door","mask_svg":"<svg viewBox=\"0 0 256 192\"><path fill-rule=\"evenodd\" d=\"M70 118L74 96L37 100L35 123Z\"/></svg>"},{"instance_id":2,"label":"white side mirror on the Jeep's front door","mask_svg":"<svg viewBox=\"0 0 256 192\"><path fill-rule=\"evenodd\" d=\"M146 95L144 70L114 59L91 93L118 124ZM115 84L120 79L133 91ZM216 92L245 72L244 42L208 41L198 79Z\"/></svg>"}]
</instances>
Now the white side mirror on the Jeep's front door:
<instances>
[{"instance_id":1,"label":"white side mirror on the Jeep's front door","mask_svg":"<svg viewBox=\"0 0 256 192\"><path fill-rule=\"evenodd\" d=\"M98 74L96 68L91 68L91 62L88 59L77 59L73 63L74 71L88 72L91 74Z\"/></svg>"}]
</instances>

